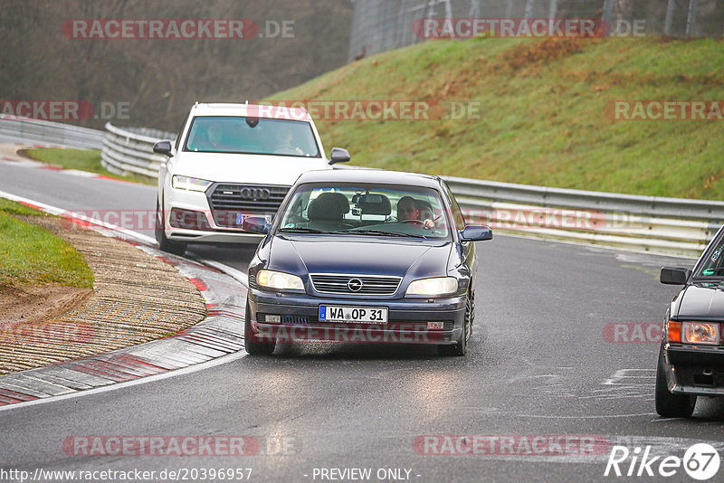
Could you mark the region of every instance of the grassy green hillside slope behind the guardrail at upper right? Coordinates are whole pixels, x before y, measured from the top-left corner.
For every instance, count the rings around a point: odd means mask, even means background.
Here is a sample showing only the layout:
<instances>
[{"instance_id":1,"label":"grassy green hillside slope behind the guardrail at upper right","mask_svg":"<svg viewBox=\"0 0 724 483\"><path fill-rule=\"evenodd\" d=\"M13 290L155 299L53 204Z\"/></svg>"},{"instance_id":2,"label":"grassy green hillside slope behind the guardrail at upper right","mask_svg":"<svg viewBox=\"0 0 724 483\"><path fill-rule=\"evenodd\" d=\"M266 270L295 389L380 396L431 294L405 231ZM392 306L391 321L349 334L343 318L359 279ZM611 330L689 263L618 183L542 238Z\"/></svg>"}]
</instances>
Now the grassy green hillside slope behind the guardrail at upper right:
<instances>
[{"instance_id":1,"label":"grassy green hillside slope behind the guardrail at upper right","mask_svg":"<svg viewBox=\"0 0 724 483\"><path fill-rule=\"evenodd\" d=\"M320 121L352 164L628 194L724 198L722 121L616 121L612 100L724 99L724 43L660 38L435 41L270 99L480 102L480 118Z\"/></svg>"}]
</instances>

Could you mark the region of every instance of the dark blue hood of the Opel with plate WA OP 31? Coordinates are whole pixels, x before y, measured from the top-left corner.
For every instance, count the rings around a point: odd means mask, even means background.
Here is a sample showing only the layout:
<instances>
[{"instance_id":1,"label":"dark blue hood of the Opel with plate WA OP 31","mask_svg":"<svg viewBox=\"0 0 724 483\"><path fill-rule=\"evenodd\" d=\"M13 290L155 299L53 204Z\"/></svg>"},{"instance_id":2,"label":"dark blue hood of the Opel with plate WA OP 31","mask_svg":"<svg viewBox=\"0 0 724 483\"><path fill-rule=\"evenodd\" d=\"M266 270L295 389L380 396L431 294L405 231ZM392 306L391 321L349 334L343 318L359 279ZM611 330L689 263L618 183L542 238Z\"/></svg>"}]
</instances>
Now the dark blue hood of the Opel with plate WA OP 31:
<instances>
[{"instance_id":1,"label":"dark blue hood of the Opel with plate WA OP 31","mask_svg":"<svg viewBox=\"0 0 724 483\"><path fill-rule=\"evenodd\" d=\"M399 241L375 237L276 236L271 270L414 278L445 275L452 242Z\"/></svg>"}]
</instances>

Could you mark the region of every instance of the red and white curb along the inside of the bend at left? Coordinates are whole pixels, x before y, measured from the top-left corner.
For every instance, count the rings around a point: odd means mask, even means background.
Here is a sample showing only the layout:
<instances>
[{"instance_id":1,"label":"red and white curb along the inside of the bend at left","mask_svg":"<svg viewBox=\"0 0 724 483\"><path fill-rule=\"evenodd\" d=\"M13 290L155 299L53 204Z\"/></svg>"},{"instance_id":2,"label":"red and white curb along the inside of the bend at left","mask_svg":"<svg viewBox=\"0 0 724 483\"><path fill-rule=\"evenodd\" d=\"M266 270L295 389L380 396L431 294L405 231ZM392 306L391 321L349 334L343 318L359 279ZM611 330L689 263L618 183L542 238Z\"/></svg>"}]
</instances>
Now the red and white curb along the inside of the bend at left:
<instances>
[{"instance_id":1,"label":"red and white curb along the inside of the bend at left","mask_svg":"<svg viewBox=\"0 0 724 483\"><path fill-rule=\"evenodd\" d=\"M106 236L129 242L174 266L195 285L205 299L207 317L174 336L131 346L110 353L0 376L2 406L37 403L44 398L64 396L110 384L128 383L192 365L208 363L243 349L243 317L246 287L243 274L220 263L216 267L158 251L148 236L89 218L72 218L68 212L48 204L0 192L7 198L33 208L64 216ZM214 262L209 262L214 263Z\"/></svg>"}]
</instances>

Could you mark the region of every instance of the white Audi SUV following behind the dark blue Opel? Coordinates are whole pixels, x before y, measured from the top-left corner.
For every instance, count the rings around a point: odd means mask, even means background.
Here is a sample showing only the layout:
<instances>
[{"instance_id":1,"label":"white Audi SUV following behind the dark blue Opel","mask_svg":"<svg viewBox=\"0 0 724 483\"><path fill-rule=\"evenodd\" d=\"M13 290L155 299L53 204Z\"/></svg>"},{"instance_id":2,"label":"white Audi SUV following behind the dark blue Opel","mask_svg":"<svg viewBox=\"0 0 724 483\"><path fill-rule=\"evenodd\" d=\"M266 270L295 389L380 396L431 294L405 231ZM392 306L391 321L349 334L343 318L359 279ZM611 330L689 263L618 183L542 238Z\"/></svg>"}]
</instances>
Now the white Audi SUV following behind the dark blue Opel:
<instances>
[{"instance_id":1,"label":"white Audi SUV following behind the dark blue Opel","mask_svg":"<svg viewBox=\"0 0 724 483\"><path fill-rule=\"evenodd\" d=\"M324 156L306 110L253 104L196 103L176 141L153 150L168 156L158 172L156 240L176 254L187 243L259 242L242 230L244 219L270 223L299 175L349 160L340 147Z\"/></svg>"}]
</instances>

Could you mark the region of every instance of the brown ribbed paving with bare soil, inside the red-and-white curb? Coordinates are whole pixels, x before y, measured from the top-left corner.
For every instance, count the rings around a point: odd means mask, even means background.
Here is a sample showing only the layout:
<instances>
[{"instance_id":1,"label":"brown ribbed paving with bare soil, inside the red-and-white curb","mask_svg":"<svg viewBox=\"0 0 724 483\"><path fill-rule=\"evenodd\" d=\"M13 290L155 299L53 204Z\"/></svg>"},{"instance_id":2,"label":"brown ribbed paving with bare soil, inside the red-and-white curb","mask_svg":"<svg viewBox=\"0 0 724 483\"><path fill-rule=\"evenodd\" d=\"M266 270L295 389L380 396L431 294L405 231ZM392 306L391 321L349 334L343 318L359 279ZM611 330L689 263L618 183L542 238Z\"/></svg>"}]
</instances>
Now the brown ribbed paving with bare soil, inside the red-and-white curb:
<instances>
[{"instance_id":1,"label":"brown ribbed paving with bare soil, inside the red-and-white curb","mask_svg":"<svg viewBox=\"0 0 724 483\"><path fill-rule=\"evenodd\" d=\"M25 322L10 311L3 314L14 321L0 325L0 374L136 346L206 317L205 300L194 284L153 255L60 218L17 218L70 242L95 281L91 293L59 287L5 290L0 295L5 307L20 315L30 309L35 316ZM41 301L46 308L35 305Z\"/></svg>"}]
</instances>

